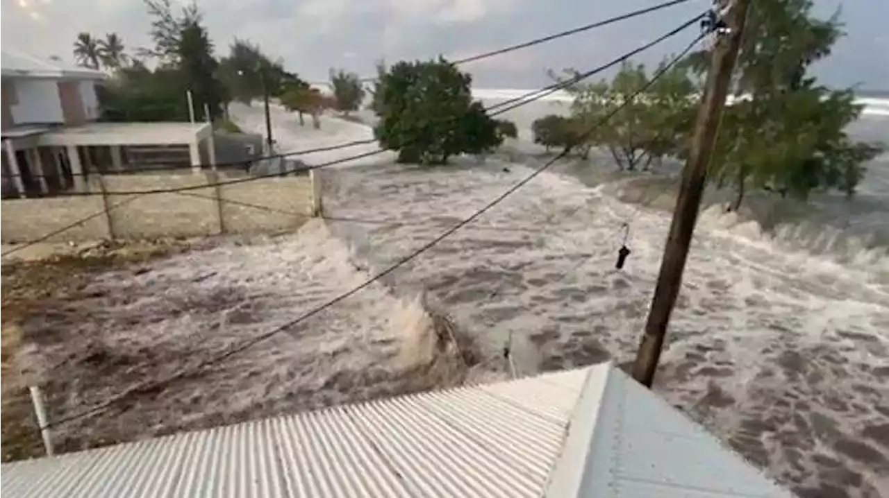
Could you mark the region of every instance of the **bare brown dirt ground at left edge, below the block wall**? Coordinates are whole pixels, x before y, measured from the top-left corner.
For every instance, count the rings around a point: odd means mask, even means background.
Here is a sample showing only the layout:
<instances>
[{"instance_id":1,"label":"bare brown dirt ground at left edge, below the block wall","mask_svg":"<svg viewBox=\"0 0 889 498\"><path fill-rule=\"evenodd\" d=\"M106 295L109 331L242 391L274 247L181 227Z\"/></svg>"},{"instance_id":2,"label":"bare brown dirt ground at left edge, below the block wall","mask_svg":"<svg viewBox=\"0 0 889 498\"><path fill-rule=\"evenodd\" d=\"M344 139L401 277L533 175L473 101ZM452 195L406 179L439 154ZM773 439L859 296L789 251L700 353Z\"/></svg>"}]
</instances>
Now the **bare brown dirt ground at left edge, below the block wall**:
<instances>
[{"instance_id":1,"label":"bare brown dirt ground at left edge, below the block wall","mask_svg":"<svg viewBox=\"0 0 889 498\"><path fill-rule=\"evenodd\" d=\"M206 244L207 242L202 242ZM44 455L20 362L23 325L47 307L81 299L98 273L167 257L195 241L38 244L0 260L0 462ZM15 246L0 247L0 253Z\"/></svg>"}]
</instances>

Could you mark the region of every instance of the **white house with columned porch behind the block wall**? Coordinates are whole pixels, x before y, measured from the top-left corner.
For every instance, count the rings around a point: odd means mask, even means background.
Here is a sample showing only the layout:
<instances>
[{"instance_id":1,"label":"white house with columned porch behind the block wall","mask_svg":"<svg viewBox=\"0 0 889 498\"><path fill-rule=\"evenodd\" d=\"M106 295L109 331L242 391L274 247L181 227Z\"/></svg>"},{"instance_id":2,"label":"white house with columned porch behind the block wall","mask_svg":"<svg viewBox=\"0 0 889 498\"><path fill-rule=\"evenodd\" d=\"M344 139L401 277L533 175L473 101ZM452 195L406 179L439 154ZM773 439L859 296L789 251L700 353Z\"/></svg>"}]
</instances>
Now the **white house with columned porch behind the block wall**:
<instances>
[{"instance_id":1,"label":"white house with columned porch behind the block wall","mask_svg":"<svg viewBox=\"0 0 889 498\"><path fill-rule=\"evenodd\" d=\"M105 162L122 170L128 147L185 146L199 169L206 140L215 164L209 123L96 123L105 79L0 47L0 198L83 188L84 176Z\"/></svg>"}]
</instances>

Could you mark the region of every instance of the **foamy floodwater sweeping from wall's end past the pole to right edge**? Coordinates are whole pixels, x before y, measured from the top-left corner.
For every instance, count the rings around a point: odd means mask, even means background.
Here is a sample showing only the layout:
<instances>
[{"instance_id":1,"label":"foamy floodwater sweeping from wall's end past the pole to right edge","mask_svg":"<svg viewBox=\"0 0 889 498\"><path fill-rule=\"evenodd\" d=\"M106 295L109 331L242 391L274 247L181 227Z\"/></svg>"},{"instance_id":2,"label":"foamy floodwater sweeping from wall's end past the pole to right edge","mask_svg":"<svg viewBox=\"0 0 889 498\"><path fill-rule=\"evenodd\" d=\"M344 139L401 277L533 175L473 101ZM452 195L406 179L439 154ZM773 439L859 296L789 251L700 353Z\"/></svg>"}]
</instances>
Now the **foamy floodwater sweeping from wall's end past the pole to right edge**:
<instances>
[{"instance_id":1,"label":"foamy floodwater sweeping from wall's end past the pole to right edge","mask_svg":"<svg viewBox=\"0 0 889 498\"><path fill-rule=\"evenodd\" d=\"M502 98L503 95L498 95ZM541 104L549 106L549 103ZM549 108L524 109L539 117ZM259 108L238 108L261 130ZM511 116L521 128L529 121ZM315 131L276 110L282 150ZM325 120L341 141L369 138ZM525 150L529 146L514 146ZM510 162L507 157L514 161ZM317 154L312 161L324 161ZM325 170L325 214L356 260L381 269L481 208L544 159ZM518 161L516 161L518 160ZM308 162L312 162L308 161ZM589 183L589 181L588 181ZM632 359L669 215L619 202L614 186L544 173L385 281L426 292L489 355L511 337L525 374ZM621 224L633 250L614 269ZM840 264L711 209L701 216L658 391L802 496L889 496L889 282L878 255ZM862 249L865 250L865 249ZM869 249L868 249L869 250ZM323 324L319 325L323 326ZM878 491L880 490L880 491Z\"/></svg>"}]
</instances>

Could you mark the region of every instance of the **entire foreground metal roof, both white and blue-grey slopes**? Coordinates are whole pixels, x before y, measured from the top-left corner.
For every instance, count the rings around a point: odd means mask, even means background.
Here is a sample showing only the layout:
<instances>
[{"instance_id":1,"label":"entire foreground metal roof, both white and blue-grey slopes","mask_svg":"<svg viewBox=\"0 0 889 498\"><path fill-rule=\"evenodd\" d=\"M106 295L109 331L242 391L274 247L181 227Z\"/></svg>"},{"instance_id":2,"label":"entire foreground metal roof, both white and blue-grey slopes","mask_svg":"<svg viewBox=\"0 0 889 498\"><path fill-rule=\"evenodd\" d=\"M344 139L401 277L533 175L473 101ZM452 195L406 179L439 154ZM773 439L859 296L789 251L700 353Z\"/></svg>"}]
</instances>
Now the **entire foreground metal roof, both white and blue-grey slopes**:
<instances>
[{"instance_id":1,"label":"entire foreground metal roof, both white and blue-grey slopes","mask_svg":"<svg viewBox=\"0 0 889 498\"><path fill-rule=\"evenodd\" d=\"M792 496L610 364L4 464L0 495Z\"/></svg>"}]
</instances>

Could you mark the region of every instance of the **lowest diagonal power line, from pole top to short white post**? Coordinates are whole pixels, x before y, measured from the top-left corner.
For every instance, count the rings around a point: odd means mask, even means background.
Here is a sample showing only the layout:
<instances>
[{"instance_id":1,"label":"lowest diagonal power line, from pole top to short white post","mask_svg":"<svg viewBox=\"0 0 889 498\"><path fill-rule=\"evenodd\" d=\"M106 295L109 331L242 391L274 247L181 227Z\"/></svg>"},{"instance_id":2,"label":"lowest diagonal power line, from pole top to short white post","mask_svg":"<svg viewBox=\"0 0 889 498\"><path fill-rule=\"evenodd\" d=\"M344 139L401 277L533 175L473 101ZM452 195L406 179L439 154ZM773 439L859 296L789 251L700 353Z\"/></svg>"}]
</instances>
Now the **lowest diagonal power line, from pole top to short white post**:
<instances>
[{"instance_id":1,"label":"lowest diagonal power line, from pole top to short white post","mask_svg":"<svg viewBox=\"0 0 889 498\"><path fill-rule=\"evenodd\" d=\"M700 20L700 19L701 19L701 16L697 16L697 17L695 17L693 20L691 20L691 21L689 21L689 22L686 22L686 23L683 25L682 28L683 28L683 29L684 29L684 28L688 28L689 26L691 26L693 23L697 22L697 21ZM675 29L675 30L673 30L671 33L676 34L676 33L678 33L678 32L681 31L681 30L682 30L682 29ZM613 118L613 116L614 116L614 115L617 115L619 112L621 112L621 110L622 110L624 107L629 106L629 104L630 104L634 99L636 99L640 94L642 94L642 93L644 93L645 91L647 91L647 90L653 85L653 83L655 83L655 82L656 82L662 75L664 75L667 71L669 71L669 69L671 69L673 66L675 66L675 65L677 64L677 62L678 62L680 59L682 59L683 57L685 57L685 54L687 54L688 51L691 51L693 45L696 44L696 43L698 43L698 42L701 40L701 38L703 38L703 35L697 36L697 37L694 39L693 43L691 43L691 44L689 45L689 47L688 47L685 51L683 51L683 52L682 52L679 56L677 56L676 58L672 59L668 65L665 65L664 67L661 67L661 70L659 70L657 73L655 73L655 74L652 76L652 78L651 78L647 83L645 83L645 85L643 85L643 86L642 86L640 89L638 89L637 91L634 91L633 93L631 93L626 99L624 99L623 103L621 103L620 106L615 107L615 108L613 109L612 112L610 112L610 113L608 113L608 114L602 116L599 120L597 120L597 123L593 124L593 125L589 128L589 130L587 130L587 131L581 136L581 140L585 140L585 139L589 138L589 136L592 135L592 134L595 132L595 130L597 130L597 128L598 128L599 126L603 125L603 124L606 123L608 120L610 120L611 118ZM220 354L219 356L217 356L217 357L215 357L215 358L212 358L212 359L210 359L210 360L204 360L204 361L201 361L195 368L193 368L193 369L191 369L191 370L182 369L182 370L180 370L179 372L177 372L177 373L175 373L175 374L173 374L173 375L168 376L168 377L167 377L166 379L164 379L163 381L160 381L160 382L157 382L157 383L144 383L144 384L142 384L142 385L140 385L140 386L133 387L133 388L127 390L127 391L122 392L121 394L116 395L115 397L113 397L113 398L111 398L111 399L108 399L108 400L106 400L106 401L104 401L104 402L98 404L98 405L95 406L95 407L88 408L88 409L86 409L86 410L84 410L84 411L82 411L82 412L80 412L80 413L74 414L74 415L69 415L69 416L67 416L67 417L63 417L63 418L61 418L60 420L58 420L58 421L52 423L51 426L60 425L60 424L62 424L62 423L68 423L68 422L70 422L70 421L72 421L72 420L76 420L76 419L84 418L84 417L87 417L87 416L91 416L91 415L93 415L93 414L99 413L100 411L102 411L102 410L104 410L104 409L107 409L108 407L113 406L114 404L116 404L116 403L119 402L120 400L122 400L122 399L126 399L127 397L131 396L132 394L134 394L134 393L136 393L136 392L146 391L146 390L148 390L148 389L152 389L152 390L154 390L154 389L156 389L156 388L158 388L158 387L163 387L164 385L166 385L166 384L168 384L168 383L172 383L172 382L174 382L174 381L176 381L176 380L179 380L180 378L182 378L182 377L184 377L184 376L192 375L194 372L196 372L196 371L198 371L198 370L201 370L201 369L203 369L203 368L207 368L207 367L209 367L209 366L211 366L211 365L213 365L213 364L215 364L215 363L218 363L218 362L220 362L220 361L228 360L228 358L230 358L230 357L236 355L237 353L239 353L239 352L244 352L245 350L251 348L253 345L255 345L255 344L259 344L260 342L265 341L265 340L267 340L268 338L270 338L270 337L272 337L272 336L276 336L277 334L283 332L284 330L287 330L288 328L292 328L293 326L298 325L298 324L300 324L301 322L303 322L303 321L305 321L305 320L308 320L308 319L314 317L316 314L318 314L318 313L320 313L320 312L323 312L324 310L326 310L326 309L332 307L333 305L335 305L335 304L339 304L341 301L347 299L348 297L350 297L350 296L354 296L356 293L360 292L361 290L366 289L368 286L372 285L372 283L374 283L374 282L376 282L376 281L379 281L380 279L386 277L386 276L387 276L388 274L390 274L390 273L395 272L398 268L400 268L401 266L403 266L403 265L409 263L410 261L412 261L412 260L415 259L416 257L419 257L421 254L423 254L423 253L426 252L427 250L432 249L433 247L436 246L436 244L438 244L438 243L441 242L441 241L444 241L446 238L448 238L448 237L451 236L453 233L455 233L455 232L457 232L458 230L460 230L462 227L464 227L464 226L466 226L466 225L469 225L470 223L474 222L478 217L481 217L481 216L484 215L487 211L489 211L490 209L493 209L494 206L496 206L497 204L503 202L503 200L506 199L507 197L509 197L509 195L514 194L515 192L517 192L518 189L520 189L520 188L522 188L523 186L527 185L527 184L528 184L529 182L531 182L534 178L537 178L538 176L540 176L541 173L543 173L545 170L548 170L549 167L551 167L553 164L555 164L556 162L558 162L559 160L561 160L562 158L564 158L565 155L567 155L567 154L568 154L568 151L567 151L567 150L563 151L563 152L560 153L560 154L557 154L555 157L553 157L551 160L549 160L548 162L546 162L545 164L543 164L541 167L539 167L538 169L534 170L531 174L529 174L529 175L526 176L525 178L523 178L523 179L521 179L520 181L518 181L514 186L509 187L509 189L507 189L505 192L503 192L503 194L498 195L498 196L497 196L496 198L494 198L491 202L486 203L485 206L482 207L481 209L477 209L477 211L476 211L475 213L473 213L471 216L462 219L458 224L453 225L453 227L451 227L451 228L445 230L445 232L443 232L443 233L439 234L438 236L436 236L432 241L428 241L428 242L426 242L425 244L421 245L420 248L418 248L418 249L414 249L414 250L413 250L410 254L408 254L407 256L401 257L398 261L396 261L395 264L388 266L388 268L386 268L385 270L381 271L380 273L376 273L376 274L373 275L370 279L364 281L363 283L359 284L358 286L356 286L356 287L354 287L354 288L348 290L347 292L345 292L345 293L343 293L343 294L340 294L339 296L336 296L336 297L332 298L331 300L327 301L327 302L324 303L324 304L321 304L321 305L319 305L319 306L316 306L316 308L314 308L314 309L312 309L312 310L310 310L310 311L308 311L308 312L303 313L303 314L300 315L298 318L296 318L296 319L294 319L294 320L290 320L289 322L285 323L284 325L282 325L282 326L280 326L280 327L276 327L276 328L274 328L274 329L272 329L272 330L270 330L270 331L268 331L268 332L266 332L266 333L260 334L259 336L252 337L251 339L248 339L248 340L244 341L244 343L237 345L236 347L234 347L234 348L228 350L227 352L224 352L224 353Z\"/></svg>"}]
</instances>

